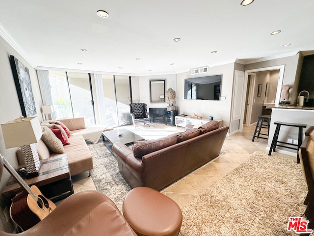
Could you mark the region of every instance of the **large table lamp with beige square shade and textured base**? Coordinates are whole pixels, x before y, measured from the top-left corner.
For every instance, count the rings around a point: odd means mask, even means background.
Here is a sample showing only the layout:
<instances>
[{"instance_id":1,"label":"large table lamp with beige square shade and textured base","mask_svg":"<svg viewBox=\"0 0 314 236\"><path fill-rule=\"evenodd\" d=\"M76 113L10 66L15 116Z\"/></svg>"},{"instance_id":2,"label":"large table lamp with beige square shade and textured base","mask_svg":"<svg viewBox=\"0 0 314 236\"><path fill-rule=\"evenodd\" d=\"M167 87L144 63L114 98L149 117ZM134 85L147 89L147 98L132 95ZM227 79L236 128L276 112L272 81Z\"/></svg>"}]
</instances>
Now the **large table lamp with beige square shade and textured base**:
<instances>
[{"instance_id":1,"label":"large table lamp with beige square shade and textured base","mask_svg":"<svg viewBox=\"0 0 314 236\"><path fill-rule=\"evenodd\" d=\"M43 132L37 117L20 117L1 124L5 148L21 147L26 177L38 176L40 161L36 143Z\"/></svg>"}]
</instances>

